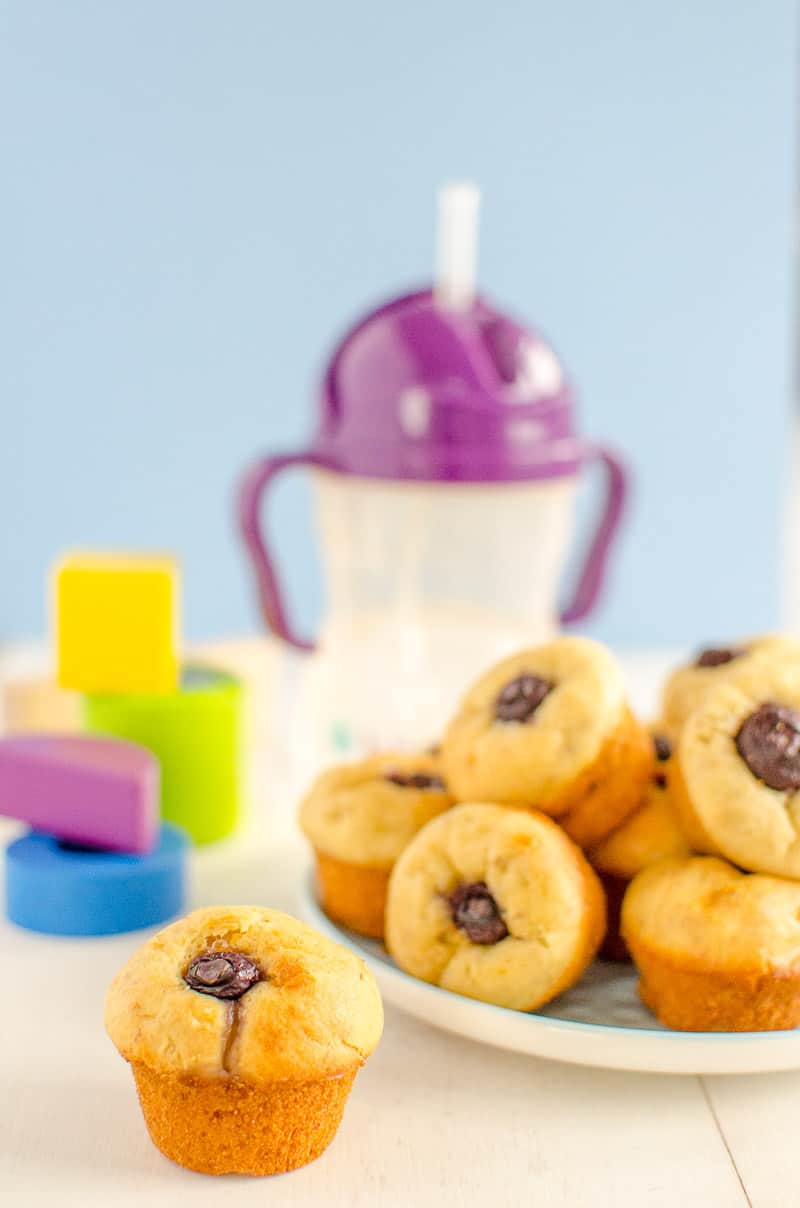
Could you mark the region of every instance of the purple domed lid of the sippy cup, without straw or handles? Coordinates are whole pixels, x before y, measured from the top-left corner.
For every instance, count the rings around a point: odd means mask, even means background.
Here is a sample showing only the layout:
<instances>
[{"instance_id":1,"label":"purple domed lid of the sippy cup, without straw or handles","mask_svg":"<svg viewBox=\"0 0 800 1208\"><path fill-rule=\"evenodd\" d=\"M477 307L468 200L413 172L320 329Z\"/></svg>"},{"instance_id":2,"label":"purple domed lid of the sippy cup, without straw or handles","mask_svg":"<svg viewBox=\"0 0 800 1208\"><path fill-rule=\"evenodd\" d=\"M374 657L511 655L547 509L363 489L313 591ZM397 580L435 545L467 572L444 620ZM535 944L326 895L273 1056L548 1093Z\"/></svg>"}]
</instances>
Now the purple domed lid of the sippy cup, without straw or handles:
<instances>
[{"instance_id":1,"label":"purple domed lid of the sippy cup, without straw or handles","mask_svg":"<svg viewBox=\"0 0 800 1208\"><path fill-rule=\"evenodd\" d=\"M338 345L313 442L344 474L503 482L574 474L573 393L549 344L475 298L394 298Z\"/></svg>"}]
</instances>

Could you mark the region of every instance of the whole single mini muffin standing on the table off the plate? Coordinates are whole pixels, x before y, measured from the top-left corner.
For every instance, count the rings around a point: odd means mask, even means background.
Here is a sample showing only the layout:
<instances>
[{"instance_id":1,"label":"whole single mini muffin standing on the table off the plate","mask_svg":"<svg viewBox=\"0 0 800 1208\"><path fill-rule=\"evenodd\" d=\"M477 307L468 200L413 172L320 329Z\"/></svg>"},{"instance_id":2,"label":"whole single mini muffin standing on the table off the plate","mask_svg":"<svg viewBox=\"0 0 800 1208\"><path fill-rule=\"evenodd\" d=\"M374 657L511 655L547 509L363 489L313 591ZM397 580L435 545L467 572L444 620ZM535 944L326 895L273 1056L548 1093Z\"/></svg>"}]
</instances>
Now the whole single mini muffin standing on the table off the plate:
<instances>
[{"instance_id":1,"label":"whole single mini muffin standing on the table off the plate","mask_svg":"<svg viewBox=\"0 0 800 1208\"><path fill-rule=\"evenodd\" d=\"M197 910L128 960L105 1027L167 1157L277 1174L330 1144L383 1027L364 963L280 911Z\"/></svg>"}]
</instances>

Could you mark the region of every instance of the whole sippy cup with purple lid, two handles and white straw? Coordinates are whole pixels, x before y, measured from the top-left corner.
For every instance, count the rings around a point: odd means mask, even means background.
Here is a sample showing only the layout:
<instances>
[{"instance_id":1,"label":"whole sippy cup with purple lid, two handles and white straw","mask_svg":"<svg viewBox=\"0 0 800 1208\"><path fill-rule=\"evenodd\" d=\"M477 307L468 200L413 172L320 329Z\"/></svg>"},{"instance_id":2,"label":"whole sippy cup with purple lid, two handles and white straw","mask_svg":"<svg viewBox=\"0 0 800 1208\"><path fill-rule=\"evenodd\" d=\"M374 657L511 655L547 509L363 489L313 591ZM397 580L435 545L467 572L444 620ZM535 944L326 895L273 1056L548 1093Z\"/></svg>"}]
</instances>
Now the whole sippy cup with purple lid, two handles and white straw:
<instances>
[{"instance_id":1,"label":"whole sippy cup with purple lid, two handles and white straw","mask_svg":"<svg viewBox=\"0 0 800 1208\"><path fill-rule=\"evenodd\" d=\"M257 461L242 483L263 618L303 652L314 762L434 742L475 675L587 616L603 585L624 470L575 435L552 349L475 296L476 214L474 186L442 191L435 288L350 329L325 372L311 446ZM575 495L592 463L604 500L560 608ZM291 625L260 524L267 488L297 465L313 478L326 588L313 643Z\"/></svg>"}]
</instances>

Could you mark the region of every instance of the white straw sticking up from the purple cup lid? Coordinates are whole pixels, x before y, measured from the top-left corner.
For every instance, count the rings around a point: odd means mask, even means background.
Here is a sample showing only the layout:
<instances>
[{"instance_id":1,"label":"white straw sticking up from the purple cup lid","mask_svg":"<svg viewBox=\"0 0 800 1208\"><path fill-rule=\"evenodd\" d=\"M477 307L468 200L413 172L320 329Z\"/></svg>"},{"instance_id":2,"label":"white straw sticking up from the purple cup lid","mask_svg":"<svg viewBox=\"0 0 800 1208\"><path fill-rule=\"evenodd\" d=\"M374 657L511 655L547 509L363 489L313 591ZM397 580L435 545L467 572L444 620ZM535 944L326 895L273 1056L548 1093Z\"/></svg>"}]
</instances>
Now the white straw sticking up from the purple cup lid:
<instances>
[{"instance_id":1,"label":"white straw sticking up from the purple cup lid","mask_svg":"<svg viewBox=\"0 0 800 1208\"><path fill-rule=\"evenodd\" d=\"M475 297L480 204L480 190L471 181L439 190L434 298L445 310L466 310Z\"/></svg>"}]
</instances>

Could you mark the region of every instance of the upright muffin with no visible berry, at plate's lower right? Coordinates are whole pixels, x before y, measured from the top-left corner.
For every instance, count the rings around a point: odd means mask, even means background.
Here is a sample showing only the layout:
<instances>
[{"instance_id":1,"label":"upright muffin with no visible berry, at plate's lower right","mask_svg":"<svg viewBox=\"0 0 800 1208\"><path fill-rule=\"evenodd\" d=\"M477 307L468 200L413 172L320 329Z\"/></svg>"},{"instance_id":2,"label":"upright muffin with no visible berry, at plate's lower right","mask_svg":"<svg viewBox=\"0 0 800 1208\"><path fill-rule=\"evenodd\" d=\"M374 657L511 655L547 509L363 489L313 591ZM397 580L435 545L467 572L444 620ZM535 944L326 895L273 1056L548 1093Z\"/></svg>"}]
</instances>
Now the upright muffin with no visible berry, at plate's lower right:
<instances>
[{"instance_id":1,"label":"upright muffin with no visible berry, at plate's lower right","mask_svg":"<svg viewBox=\"0 0 800 1208\"><path fill-rule=\"evenodd\" d=\"M663 860L632 882L622 935L642 1000L667 1027L800 1024L800 884L714 856Z\"/></svg>"}]
</instances>

